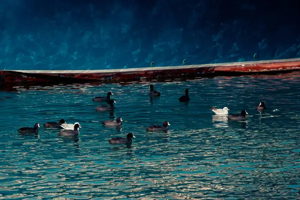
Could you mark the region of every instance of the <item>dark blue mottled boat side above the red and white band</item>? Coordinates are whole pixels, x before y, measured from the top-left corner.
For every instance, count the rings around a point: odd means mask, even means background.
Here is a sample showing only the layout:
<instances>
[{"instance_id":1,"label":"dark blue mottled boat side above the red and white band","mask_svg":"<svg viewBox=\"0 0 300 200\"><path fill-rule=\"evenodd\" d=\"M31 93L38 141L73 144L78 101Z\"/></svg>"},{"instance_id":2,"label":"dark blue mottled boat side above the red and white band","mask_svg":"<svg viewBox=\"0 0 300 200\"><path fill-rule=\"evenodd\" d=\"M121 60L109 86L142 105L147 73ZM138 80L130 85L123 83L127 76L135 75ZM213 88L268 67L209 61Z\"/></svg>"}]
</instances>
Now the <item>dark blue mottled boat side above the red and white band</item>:
<instances>
[{"instance_id":1,"label":"dark blue mottled boat side above the red and white band","mask_svg":"<svg viewBox=\"0 0 300 200\"><path fill-rule=\"evenodd\" d=\"M258 57L253 58L257 52ZM0 68L300 57L299 0L1 0Z\"/></svg>"}]
</instances>

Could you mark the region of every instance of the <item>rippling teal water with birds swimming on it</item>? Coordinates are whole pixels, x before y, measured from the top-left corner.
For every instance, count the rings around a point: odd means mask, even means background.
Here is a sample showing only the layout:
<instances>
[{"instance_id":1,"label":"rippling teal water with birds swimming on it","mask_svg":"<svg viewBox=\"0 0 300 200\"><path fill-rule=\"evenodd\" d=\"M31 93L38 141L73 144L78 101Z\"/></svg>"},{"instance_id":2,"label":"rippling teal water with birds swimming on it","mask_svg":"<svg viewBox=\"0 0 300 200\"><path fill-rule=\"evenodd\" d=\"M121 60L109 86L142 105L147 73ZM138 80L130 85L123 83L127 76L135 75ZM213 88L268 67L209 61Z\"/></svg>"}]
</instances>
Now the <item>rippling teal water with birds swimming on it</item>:
<instances>
[{"instance_id":1,"label":"rippling teal water with birds swimming on it","mask_svg":"<svg viewBox=\"0 0 300 200\"><path fill-rule=\"evenodd\" d=\"M1 199L296 199L299 178L299 72L153 82L17 87L0 92ZM191 101L178 97L189 88ZM92 97L111 90L114 112ZM267 110L255 105L264 101ZM245 122L216 117L209 106L246 109ZM121 116L121 128L101 121ZM64 118L77 138L42 124ZM170 123L167 132L147 132ZM20 135L39 122L39 134ZM133 132L131 146L108 139Z\"/></svg>"}]
</instances>

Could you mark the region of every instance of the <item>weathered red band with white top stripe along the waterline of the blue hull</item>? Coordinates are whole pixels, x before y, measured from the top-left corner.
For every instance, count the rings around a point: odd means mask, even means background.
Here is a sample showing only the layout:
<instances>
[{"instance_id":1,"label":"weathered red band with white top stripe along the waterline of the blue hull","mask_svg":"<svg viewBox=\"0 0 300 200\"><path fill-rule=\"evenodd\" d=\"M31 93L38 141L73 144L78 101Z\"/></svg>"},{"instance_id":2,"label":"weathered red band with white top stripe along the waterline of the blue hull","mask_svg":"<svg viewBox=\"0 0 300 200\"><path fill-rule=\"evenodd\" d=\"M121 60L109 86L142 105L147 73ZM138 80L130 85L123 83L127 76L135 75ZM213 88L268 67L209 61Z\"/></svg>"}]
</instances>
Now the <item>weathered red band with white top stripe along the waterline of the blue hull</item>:
<instances>
[{"instance_id":1,"label":"weathered red band with white top stripe along the waterline of the blue hull","mask_svg":"<svg viewBox=\"0 0 300 200\"><path fill-rule=\"evenodd\" d=\"M103 70L0 70L0 81L2 83L167 81L205 76L273 74L294 70L300 70L300 58Z\"/></svg>"}]
</instances>

